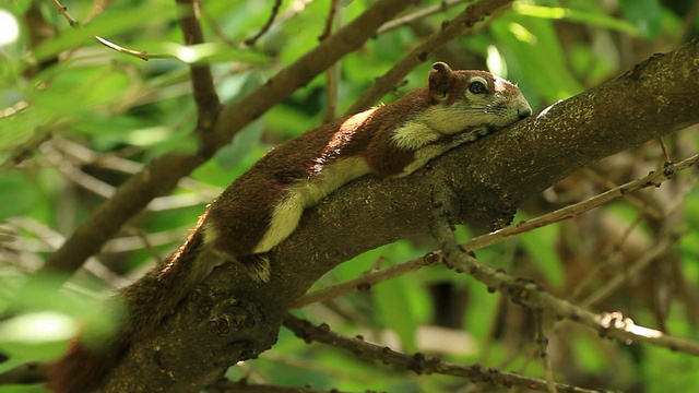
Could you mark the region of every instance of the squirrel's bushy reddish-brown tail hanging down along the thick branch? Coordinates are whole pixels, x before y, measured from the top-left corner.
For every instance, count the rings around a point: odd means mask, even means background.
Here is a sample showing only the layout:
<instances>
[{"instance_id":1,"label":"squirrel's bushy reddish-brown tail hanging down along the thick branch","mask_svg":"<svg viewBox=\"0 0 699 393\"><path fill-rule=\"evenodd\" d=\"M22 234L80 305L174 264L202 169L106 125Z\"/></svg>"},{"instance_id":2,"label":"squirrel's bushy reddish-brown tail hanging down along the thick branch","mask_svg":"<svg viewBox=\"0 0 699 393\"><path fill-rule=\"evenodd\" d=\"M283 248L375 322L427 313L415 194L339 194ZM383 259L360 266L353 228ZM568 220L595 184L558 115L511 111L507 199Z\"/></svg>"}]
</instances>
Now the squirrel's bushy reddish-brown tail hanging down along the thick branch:
<instances>
[{"instance_id":1,"label":"squirrel's bushy reddish-brown tail hanging down along the thick branch","mask_svg":"<svg viewBox=\"0 0 699 393\"><path fill-rule=\"evenodd\" d=\"M122 288L119 300L126 312L117 335L102 347L85 345L76 337L63 357L50 366L48 386L57 393L83 393L96 388L129 348L134 337L150 333L173 313L192 288L221 262L202 248L199 217L196 230L173 255L135 283Z\"/></svg>"}]
</instances>

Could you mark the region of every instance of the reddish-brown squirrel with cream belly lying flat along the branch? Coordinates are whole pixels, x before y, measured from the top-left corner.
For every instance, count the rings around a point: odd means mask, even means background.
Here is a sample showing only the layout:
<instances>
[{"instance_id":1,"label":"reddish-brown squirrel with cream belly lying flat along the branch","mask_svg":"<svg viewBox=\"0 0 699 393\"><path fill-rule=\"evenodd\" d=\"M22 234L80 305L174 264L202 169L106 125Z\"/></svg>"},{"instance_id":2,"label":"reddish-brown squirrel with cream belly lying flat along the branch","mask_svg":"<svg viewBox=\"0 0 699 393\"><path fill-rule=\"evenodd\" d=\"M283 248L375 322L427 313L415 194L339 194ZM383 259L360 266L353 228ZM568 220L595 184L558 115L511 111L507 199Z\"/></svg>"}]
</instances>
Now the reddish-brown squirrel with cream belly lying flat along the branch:
<instances>
[{"instance_id":1,"label":"reddish-brown squirrel with cream belly lying flat along the branch","mask_svg":"<svg viewBox=\"0 0 699 393\"><path fill-rule=\"evenodd\" d=\"M96 388L130 343L150 331L214 267L229 261L264 284L266 253L297 227L306 209L365 175L396 178L431 158L532 114L512 83L486 71L436 62L426 87L307 131L268 152L199 217L179 249L117 296L125 320L109 344L73 340L50 367L49 388L82 393Z\"/></svg>"}]
</instances>

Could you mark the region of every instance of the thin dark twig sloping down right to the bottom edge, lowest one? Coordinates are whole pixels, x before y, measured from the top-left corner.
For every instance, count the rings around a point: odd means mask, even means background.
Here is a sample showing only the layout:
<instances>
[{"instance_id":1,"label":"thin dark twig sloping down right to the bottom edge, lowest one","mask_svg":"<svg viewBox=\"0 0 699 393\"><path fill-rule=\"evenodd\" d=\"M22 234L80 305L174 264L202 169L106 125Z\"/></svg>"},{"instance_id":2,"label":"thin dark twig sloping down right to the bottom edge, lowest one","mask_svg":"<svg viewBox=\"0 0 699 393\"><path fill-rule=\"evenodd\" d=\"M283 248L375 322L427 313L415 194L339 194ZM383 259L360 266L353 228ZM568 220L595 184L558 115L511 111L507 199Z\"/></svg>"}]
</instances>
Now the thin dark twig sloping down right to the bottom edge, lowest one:
<instances>
[{"instance_id":1,"label":"thin dark twig sloping down right to the bottom edge, lowest one","mask_svg":"<svg viewBox=\"0 0 699 393\"><path fill-rule=\"evenodd\" d=\"M292 315L286 315L284 326L294 332L297 337L306 343L318 342L332 345L335 348L345 349L365 359L380 360L386 365L394 365L416 373L439 373L467 379L474 383L485 382L494 386L522 388L545 392L547 383L544 380L524 377L517 373L505 372L493 368L483 368L479 365L464 366L443 361L439 358L427 357L420 353L408 355L391 350L388 347L370 344L359 337L347 337L330 330L327 324L313 326L310 322ZM593 393L601 390L588 390L573 385L557 383L556 386L565 392Z\"/></svg>"}]
</instances>

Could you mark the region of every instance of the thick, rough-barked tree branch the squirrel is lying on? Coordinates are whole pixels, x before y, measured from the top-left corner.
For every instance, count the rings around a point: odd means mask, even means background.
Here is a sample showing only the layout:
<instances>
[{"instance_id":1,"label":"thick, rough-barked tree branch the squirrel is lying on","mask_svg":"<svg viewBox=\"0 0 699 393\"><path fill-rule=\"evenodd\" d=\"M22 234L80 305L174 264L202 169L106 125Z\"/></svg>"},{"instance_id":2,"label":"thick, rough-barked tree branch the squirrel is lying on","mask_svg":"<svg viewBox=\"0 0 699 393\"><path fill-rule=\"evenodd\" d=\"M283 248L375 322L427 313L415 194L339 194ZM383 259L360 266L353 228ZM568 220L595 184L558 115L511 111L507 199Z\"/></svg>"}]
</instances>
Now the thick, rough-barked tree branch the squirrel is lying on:
<instances>
[{"instance_id":1,"label":"thick, rough-barked tree branch the squirrel is lying on","mask_svg":"<svg viewBox=\"0 0 699 393\"><path fill-rule=\"evenodd\" d=\"M151 383L137 385L145 391L193 391L227 365L254 357L274 343L286 308L322 274L360 252L426 231L437 191L449 192L460 222L499 226L573 170L699 123L698 58L696 39L406 178L369 176L341 188L279 246L269 284L250 283L237 264L217 269L161 330L131 347L107 391L119 391L125 379Z\"/></svg>"}]
</instances>

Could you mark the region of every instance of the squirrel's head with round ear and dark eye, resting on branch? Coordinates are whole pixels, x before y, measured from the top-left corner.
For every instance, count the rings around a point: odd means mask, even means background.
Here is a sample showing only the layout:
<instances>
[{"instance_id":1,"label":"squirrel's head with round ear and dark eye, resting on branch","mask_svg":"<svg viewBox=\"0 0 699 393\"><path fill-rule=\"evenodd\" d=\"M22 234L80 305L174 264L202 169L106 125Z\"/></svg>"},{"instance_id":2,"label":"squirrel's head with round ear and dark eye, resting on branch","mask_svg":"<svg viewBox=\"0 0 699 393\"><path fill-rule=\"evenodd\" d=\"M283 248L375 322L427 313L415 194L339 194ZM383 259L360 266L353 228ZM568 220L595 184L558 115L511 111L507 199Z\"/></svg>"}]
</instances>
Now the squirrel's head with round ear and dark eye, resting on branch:
<instances>
[{"instance_id":1,"label":"squirrel's head with round ear and dark eye, resting on branch","mask_svg":"<svg viewBox=\"0 0 699 393\"><path fill-rule=\"evenodd\" d=\"M486 71L453 71L436 62L428 90L435 103L433 126L440 133L457 133L473 126L503 128L532 115L522 92Z\"/></svg>"}]
</instances>

